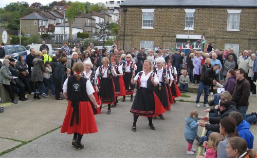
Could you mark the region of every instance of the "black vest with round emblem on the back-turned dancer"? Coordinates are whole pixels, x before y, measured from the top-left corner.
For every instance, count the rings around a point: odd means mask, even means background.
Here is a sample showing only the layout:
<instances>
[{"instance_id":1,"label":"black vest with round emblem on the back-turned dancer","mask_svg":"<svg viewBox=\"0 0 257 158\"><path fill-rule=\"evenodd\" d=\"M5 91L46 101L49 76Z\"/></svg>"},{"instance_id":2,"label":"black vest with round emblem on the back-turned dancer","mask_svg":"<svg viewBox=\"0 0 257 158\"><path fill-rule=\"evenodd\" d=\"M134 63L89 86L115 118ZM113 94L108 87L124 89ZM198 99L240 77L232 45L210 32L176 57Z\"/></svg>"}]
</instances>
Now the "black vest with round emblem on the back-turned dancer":
<instances>
[{"instance_id":1,"label":"black vest with round emblem on the back-turned dancer","mask_svg":"<svg viewBox=\"0 0 257 158\"><path fill-rule=\"evenodd\" d=\"M68 78L67 100L69 101L89 101L86 93L87 79L80 77L80 81L76 80L76 76L72 75Z\"/></svg>"}]
</instances>

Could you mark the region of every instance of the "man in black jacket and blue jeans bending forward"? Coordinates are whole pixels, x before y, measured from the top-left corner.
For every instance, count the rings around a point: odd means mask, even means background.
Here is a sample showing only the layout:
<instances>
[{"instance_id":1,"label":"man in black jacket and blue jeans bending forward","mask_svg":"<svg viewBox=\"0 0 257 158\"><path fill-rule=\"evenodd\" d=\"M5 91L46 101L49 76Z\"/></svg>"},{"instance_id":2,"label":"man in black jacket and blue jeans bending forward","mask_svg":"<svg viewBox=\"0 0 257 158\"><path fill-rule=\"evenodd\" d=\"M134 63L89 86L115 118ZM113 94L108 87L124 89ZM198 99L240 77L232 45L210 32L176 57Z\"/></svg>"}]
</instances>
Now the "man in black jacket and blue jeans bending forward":
<instances>
[{"instance_id":1,"label":"man in black jacket and blue jeans bending forward","mask_svg":"<svg viewBox=\"0 0 257 158\"><path fill-rule=\"evenodd\" d=\"M213 65L212 68L206 69L205 72L203 74L201 74L200 83L199 83L199 87L198 87L198 93L197 93L197 97L196 97L196 101L195 101L197 107L200 107L199 101L200 101L201 92L203 90L205 92L204 107L210 107L208 105L209 87L214 81L215 71L218 69L218 67L219 67L218 64L215 64L215 65Z\"/></svg>"}]
</instances>

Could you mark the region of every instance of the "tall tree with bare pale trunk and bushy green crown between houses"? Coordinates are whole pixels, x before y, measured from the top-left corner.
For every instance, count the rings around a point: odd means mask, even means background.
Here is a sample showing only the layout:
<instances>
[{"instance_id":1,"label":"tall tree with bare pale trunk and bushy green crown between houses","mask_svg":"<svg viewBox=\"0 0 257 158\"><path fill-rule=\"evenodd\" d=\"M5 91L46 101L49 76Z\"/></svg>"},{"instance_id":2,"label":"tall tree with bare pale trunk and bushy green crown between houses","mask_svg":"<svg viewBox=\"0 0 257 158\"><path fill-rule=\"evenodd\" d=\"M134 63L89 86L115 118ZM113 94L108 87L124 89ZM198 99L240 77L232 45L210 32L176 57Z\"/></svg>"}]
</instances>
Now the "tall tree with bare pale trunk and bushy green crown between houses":
<instances>
[{"instance_id":1,"label":"tall tree with bare pale trunk and bushy green crown between houses","mask_svg":"<svg viewBox=\"0 0 257 158\"><path fill-rule=\"evenodd\" d=\"M86 11L84 3L74 2L66 11L66 16L69 19L69 40L72 39L72 21L78 16L79 12L84 13Z\"/></svg>"}]
</instances>

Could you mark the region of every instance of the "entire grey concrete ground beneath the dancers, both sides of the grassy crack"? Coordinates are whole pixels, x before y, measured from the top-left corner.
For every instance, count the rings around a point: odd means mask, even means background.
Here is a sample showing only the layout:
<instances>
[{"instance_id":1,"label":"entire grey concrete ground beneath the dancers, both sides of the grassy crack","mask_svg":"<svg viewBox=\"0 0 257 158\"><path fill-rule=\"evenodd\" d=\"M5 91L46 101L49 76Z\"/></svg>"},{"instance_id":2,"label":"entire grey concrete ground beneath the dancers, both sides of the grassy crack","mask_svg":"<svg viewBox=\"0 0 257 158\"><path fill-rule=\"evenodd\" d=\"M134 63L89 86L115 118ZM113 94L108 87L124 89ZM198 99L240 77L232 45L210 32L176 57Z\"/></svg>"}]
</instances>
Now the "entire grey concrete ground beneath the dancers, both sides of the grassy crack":
<instances>
[{"instance_id":1,"label":"entire grey concrete ground beneath the dancers, both sides of the grassy crack","mask_svg":"<svg viewBox=\"0 0 257 158\"><path fill-rule=\"evenodd\" d=\"M156 130L148 127L148 119L139 117L137 131L132 132L133 115L130 113L132 102L119 102L112 113L107 108L102 114L95 115L98 133L86 134L82 138L84 149L76 151L71 146L72 135L60 133L67 102L53 97L29 100L5 106L0 114L0 155L1 157L194 157L186 154L187 142L183 135L185 117L190 111L198 110L201 116L206 113L203 106L197 108L196 94L191 97L178 97L171 111L164 113L165 120L153 120ZM212 96L209 96L212 97ZM127 97L128 100L128 97ZM203 101L203 97L201 100ZM249 112L257 111L257 98L249 98ZM0 105L0 106L3 106ZM198 128L198 135L204 134ZM257 125L251 125L257 135ZM196 142L193 147L202 154ZM254 148L257 141L254 141Z\"/></svg>"}]
</instances>

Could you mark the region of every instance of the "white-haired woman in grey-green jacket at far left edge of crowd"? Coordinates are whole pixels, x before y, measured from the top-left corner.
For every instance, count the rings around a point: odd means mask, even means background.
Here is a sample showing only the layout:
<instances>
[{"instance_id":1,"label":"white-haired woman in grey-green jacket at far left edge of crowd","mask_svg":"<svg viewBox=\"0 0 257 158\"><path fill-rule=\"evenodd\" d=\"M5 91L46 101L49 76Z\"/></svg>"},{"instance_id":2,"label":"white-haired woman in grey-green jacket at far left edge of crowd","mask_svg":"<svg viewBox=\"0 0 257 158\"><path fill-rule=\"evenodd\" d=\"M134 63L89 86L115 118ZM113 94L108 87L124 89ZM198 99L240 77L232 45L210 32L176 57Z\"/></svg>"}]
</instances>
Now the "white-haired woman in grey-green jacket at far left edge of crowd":
<instances>
[{"instance_id":1,"label":"white-haired woman in grey-green jacket at far left edge of crowd","mask_svg":"<svg viewBox=\"0 0 257 158\"><path fill-rule=\"evenodd\" d=\"M0 69L0 84L3 84L4 87L7 89L12 103L17 104L17 101L15 100L15 86L11 82L13 79L17 77L12 76L12 73L9 69L9 65L10 61L5 59L3 61L3 66Z\"/></svg>"}]
</instances>

